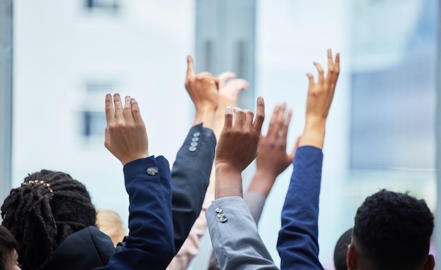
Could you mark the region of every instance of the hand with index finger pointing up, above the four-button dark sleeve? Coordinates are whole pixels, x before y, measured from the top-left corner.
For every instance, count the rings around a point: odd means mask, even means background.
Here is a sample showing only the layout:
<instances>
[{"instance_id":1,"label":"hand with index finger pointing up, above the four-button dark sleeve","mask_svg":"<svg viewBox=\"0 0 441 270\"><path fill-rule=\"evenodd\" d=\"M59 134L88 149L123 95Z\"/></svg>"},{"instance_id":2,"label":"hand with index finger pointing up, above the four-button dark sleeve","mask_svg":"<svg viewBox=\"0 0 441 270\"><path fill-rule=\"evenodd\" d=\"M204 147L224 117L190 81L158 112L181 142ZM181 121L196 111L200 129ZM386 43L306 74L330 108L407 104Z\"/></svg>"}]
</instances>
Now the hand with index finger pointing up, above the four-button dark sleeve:
<instances>
[{"instance_id":1,"label":"hand with index finger pointing up, above the four-button dark sleeve","mask_svg":"<svg viewBox=\"0 0 441 270\"><path fill-rule=\"evenodd\" d=\"M209 72L196 75L192 56L187 56L185 88L197 111L216 111L218 108L218 78L213 77Z\"/></svg>"}]
</instances>

